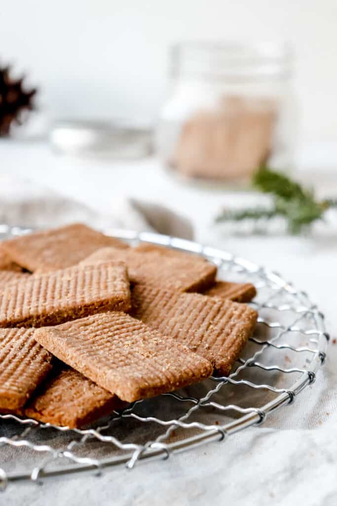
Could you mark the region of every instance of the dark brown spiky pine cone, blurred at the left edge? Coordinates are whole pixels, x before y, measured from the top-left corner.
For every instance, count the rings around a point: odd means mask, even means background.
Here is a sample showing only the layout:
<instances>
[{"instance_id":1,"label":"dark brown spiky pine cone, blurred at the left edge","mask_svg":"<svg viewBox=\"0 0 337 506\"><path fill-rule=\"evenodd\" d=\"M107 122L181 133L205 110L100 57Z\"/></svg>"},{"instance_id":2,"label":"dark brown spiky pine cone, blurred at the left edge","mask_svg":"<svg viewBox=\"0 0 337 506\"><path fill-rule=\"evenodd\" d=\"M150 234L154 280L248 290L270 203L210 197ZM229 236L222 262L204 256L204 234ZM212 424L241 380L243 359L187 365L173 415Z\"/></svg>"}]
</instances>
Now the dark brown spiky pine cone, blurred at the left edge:
<instances>
[{"instance_id":1,"label":"dark brown spiky pine cone, blurred at the left edge","mask_svg":"<svg viewBox=\"0 0 337 506\"><path fill-rule=\"evenodd\" d=\"M9 67L0 67L0 136L9 135L11 125L21 123L22 112L33 109L35 93L23 89L23 77L13 79Z\"/></svg>"}]
</instances>

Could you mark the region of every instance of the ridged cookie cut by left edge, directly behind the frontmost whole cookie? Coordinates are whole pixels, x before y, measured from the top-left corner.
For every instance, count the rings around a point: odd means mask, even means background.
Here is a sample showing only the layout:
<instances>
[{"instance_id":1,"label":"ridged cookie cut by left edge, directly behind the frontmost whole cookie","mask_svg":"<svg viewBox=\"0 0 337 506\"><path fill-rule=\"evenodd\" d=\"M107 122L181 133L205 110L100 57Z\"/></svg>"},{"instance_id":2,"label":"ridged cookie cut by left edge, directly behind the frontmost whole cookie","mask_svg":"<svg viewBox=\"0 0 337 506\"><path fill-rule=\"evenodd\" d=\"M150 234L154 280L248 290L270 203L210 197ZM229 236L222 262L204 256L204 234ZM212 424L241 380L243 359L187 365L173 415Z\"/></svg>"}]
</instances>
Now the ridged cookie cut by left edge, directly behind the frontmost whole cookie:
<instances>
[{"instance_id":1,"label":"ridged cookie cut by left edge, directly behind the frontmost whole cookie","mask_svg":"<svg viewBox=\"0 0 337 506\"><path fill-rule=\"evenodd\" d=\"M6 284L0 290L0 327L56 325L129 307L129 281L121 262L68 267Z\"/></svg>"}]
</instances>

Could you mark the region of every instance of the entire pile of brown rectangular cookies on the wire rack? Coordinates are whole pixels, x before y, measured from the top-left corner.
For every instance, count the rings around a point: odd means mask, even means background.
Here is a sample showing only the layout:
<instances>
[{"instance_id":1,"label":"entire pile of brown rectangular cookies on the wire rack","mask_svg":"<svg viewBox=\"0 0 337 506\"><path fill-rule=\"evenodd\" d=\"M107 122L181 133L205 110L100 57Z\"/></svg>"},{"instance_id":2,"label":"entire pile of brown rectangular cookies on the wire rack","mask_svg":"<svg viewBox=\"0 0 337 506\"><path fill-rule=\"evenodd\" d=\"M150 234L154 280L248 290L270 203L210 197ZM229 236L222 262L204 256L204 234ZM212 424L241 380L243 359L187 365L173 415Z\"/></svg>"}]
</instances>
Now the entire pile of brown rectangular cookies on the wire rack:
<instances>
[{"instance_id":1,"label":"entire pile of brown rectangular cookies on the wire rack","mask_svg":"<svg viewBox=\"0 0 337 506\"><path fill-rule=\"evenodd\" d=\"M0 246L0 412L70 428L226 375L252 334L249 283L85 225Z\"/></svg>"}]
</instances>

